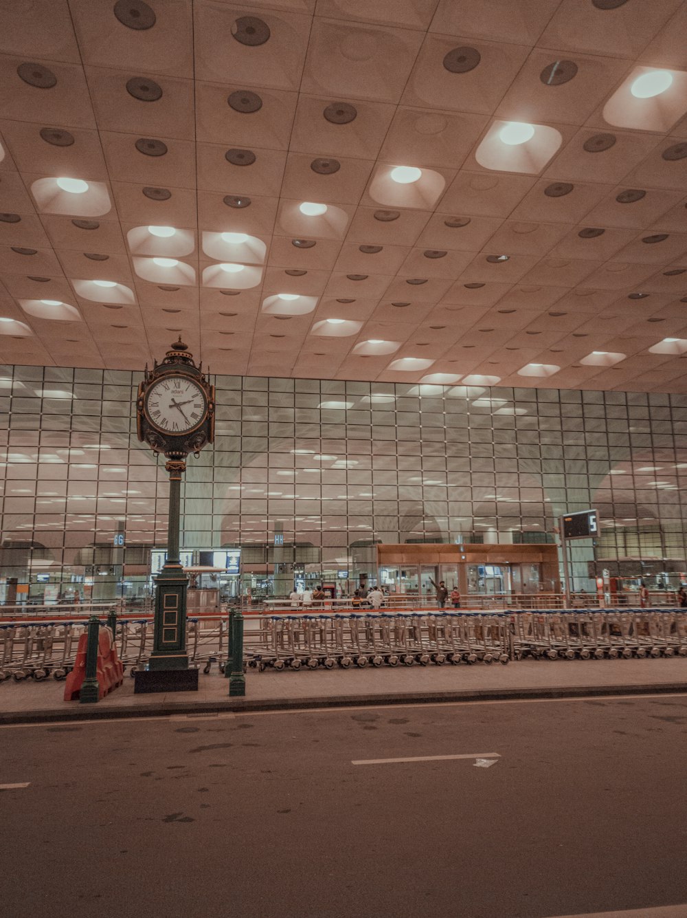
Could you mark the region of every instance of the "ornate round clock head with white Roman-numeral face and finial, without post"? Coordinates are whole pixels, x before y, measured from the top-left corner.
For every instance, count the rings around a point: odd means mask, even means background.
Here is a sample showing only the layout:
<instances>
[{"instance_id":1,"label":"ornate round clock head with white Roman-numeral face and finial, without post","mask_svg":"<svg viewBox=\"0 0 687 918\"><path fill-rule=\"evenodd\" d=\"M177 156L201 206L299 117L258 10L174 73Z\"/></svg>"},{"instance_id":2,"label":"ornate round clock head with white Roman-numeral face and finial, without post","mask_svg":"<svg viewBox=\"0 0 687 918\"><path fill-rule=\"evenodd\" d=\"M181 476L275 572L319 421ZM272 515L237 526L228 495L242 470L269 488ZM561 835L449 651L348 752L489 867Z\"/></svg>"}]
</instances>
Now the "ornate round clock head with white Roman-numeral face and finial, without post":
<instances>
[{"instance_id":1,"label":"ornate round clock head with white Roman-numeral face and finial, without post","mask_svg":"<svg viewBox=\"0 0 687 918\"><path fill-rule=\"evenodd\" d=\"M164 360L146 365L137 397L137 432L154 453L185 463L215 439L215 386L179 336ZM182 469L183 470L183 469Z\"/></svg>"}]
</instances>

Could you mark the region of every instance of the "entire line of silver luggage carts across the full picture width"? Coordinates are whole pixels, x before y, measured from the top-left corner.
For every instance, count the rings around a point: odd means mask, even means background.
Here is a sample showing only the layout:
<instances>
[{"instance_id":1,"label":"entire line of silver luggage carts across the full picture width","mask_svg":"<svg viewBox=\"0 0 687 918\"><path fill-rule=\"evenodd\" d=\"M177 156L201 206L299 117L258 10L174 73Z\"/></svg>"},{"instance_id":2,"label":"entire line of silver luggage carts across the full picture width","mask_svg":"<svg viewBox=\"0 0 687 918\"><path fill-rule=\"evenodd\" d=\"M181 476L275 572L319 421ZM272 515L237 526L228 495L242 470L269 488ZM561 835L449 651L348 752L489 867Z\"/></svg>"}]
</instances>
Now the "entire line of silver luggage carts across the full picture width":
<instances>
[{"instance_id":1,"label":"entire line of silver luggage carts across the full picture width","mask_svg":"<svg viewBox=\"0 0 687 918\"><path fill-rule=\"evenodd\" d=\"M52 676L73 666L85 621L0 624L0 681ZM150 617L119 619L116 648L134 675L152 650ZM227 616L188 619L192 665L227 662ZM246 620L244 668L506 664L521 659L687 656L687 610L506 610L271 615Z\"/></svg>"}]
</instances>

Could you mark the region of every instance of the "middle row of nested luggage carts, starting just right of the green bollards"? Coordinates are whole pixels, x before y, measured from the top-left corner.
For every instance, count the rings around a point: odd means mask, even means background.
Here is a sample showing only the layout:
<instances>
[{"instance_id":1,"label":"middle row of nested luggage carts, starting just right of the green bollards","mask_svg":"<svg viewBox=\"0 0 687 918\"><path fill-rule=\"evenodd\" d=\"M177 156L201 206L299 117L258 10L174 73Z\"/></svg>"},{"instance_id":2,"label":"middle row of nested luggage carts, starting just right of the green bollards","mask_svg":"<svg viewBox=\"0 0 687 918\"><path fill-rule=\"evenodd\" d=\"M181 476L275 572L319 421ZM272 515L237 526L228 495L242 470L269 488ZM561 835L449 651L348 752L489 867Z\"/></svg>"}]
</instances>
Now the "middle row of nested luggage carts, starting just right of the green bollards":
<instances>
[{"instance_id":1,"label":"middle row of nested luggage carts, starting just right of the green bollards","mask_svg":"<svg viewBox=\"0 0 687 918\"><path fill-rule=\"evenodd\" d=\"M503 613L288 615L263 618L245 644L248 666L332 669L508 663Z\"/></svg>"}]
</instances>

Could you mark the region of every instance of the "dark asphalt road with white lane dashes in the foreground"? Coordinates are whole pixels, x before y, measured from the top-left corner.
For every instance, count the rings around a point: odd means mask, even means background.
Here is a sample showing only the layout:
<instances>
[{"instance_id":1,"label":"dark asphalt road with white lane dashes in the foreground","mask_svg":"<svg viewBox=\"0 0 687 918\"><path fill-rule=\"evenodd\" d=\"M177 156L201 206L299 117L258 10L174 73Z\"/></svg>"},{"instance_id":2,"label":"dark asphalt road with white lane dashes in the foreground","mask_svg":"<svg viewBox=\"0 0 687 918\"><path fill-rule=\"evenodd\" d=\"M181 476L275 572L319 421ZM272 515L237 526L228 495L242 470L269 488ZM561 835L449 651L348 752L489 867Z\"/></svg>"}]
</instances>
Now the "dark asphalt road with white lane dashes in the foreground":
<instances>
[{"instance_id":1,"label":"dark asphalt road with white lane dashes in the foreground","mask_svg":"<svg viewBox=\"0 0 687 918\"><path fill-rule=\"evenodd\" d=\"M687 696L0 728L0 913L686 903L686 728ZM419 756L470 757L352 764Z\"/></svg>"}]
</instances>

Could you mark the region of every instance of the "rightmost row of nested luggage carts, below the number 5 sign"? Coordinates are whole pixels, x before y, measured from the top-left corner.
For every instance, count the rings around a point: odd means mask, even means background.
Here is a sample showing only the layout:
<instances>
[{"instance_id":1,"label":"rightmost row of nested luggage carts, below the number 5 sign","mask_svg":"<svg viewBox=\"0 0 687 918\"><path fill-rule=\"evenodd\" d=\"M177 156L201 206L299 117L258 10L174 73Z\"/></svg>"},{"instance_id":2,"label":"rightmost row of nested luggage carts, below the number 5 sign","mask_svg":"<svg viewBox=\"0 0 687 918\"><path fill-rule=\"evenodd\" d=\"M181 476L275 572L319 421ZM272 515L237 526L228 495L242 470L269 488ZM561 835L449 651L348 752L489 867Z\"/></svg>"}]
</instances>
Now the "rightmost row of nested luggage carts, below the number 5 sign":
<instances>
[{"instance_id":1,"label":"rightmost row of nested luggage carts, below the number 5 sign","mask_svg":"<svg viewBox=\"0 0 687 918\"><path fill-rule=\"evenodd\" d=\"M687 610L511 612L515 660L687 656Z\"/></svg>"}]
</instances>

